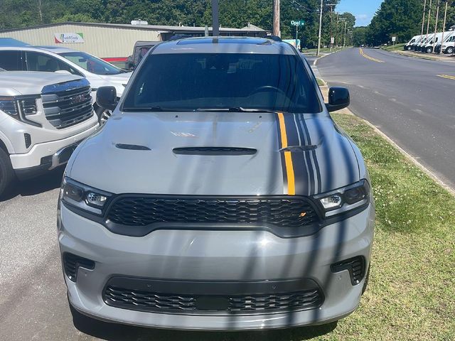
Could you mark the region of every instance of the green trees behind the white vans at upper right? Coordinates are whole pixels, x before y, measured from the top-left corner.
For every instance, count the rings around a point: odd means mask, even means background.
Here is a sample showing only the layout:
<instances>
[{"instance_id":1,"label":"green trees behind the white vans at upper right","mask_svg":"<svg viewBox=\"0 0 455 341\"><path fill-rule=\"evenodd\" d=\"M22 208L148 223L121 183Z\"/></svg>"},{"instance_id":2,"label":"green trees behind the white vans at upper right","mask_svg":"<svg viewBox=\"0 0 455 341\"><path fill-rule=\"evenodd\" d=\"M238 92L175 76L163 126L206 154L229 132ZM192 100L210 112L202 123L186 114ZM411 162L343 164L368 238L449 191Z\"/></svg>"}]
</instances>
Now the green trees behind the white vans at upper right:
<instances>
[{"instance_id":1,"label":"green trees behind the white vans at upper right","mask_svg":"<svg viewBox=\"0 0 455 341\"><path fill-rule=\"evenodd\" d=\"M427 0L424 21L424 33L427 33L429 0ZM455 24L454 1L447 1L446 27L449 30ZM433 0L432 11L429 17L429 32L434 33L436 26L437 6L439 4L439 18L437 31L442 31L444 22L444 0ZM375 13L370 25L356 27L353 31L354 45L381 45L390 43L392 36L397 37L397 43L407 43L413 36L422 33L422 18L424 0L384 0L380 9Z\"/></svg>"}]
</instances>

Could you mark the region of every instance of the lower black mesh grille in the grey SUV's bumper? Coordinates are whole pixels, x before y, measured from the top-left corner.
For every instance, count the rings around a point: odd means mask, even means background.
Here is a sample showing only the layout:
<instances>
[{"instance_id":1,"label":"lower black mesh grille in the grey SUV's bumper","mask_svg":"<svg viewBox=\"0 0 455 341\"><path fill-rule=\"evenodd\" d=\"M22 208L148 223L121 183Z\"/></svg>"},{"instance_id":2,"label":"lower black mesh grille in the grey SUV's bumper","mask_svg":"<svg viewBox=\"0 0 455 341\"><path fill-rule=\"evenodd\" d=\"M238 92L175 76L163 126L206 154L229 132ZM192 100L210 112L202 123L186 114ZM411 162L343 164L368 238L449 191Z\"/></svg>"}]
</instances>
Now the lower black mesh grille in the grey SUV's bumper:
<instances>
[{"instance_id":1,"label":"lower black mesh grille in the grey SUV's bumper","mask_svg":"<svg viewBox=\"0 0 455 341\"><path fill-rule=\"evenodd\" d=\"M104 299L105 303L117 308L176 313L198 311L269 313L279 310L314 309L323 303L323 295L319 288L294 293L245 296L193 296L107 286ZM201 301L203 301L203 304L201 304Z\"/></svg>"}]
</instances>

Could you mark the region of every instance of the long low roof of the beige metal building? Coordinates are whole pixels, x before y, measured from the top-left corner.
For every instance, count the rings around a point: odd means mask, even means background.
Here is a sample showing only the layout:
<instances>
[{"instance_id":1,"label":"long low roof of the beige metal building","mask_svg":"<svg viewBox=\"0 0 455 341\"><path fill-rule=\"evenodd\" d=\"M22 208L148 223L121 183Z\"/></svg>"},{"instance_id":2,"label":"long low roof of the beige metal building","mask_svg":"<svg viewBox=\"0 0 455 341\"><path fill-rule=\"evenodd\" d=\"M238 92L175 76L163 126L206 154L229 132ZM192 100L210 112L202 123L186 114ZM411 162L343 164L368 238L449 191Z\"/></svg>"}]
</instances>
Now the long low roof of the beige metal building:
<instances>
[{"instance_id":1,"label":"long low roof of the beige metal building","mask_svg":"<svg viewBox=\"0 0 455 341\"><path fill-rule=\"evenodd\" d=\"M67 26L67 25L76 25L76 26L95 26L95 27L106 27L106 28L125 28L125 29L132 29L132 30L149 30L149 31L162 31L162 32L170 32L170 33L196 33L196 32L204 32L205 27L202 26L168 26L168 25L132 25L130 23L76 23L72 21L65 21L63 23L48 23L45 25L40 26L28 26L28 27L21 27L21 28L10 28L8 30L0 31L0 33L12 32L12 31L25 31L31 30L36 28L45 28L45 27L56 27L56 26ZM211 27L208 28L208 31L213 31ZM255 25L251 25L250 23L248 26L244 28L228 28L228 27L220 27L220 32L238 32L238 33L245 33L245 32L264 32L267 33L269 31L265 31L262 28L259 28Z\"/></svg>"}]
</instances>

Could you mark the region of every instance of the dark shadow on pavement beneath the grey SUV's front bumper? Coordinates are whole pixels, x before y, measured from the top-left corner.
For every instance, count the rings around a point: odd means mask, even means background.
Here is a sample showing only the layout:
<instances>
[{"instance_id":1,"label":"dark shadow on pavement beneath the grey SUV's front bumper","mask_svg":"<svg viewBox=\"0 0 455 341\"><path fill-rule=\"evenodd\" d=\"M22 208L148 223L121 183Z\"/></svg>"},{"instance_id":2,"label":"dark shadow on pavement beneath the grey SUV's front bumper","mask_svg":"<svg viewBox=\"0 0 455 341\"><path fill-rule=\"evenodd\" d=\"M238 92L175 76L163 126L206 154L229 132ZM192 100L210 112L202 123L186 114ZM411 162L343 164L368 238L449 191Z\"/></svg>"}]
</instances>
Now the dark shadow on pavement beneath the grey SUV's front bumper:
<instances>
[{"instance_id":1,"label":"dark shadow on pavement beneath the grey SUV's front bumper","mask_svg":"<svg viewBox=\"0 0 455 341\"><path fill-rule=\"evenodd\" d=\"M182 330L161 330L154 328L140 328L130 325L106 323L75 313L73 315L75 328L80 332L98 337L102 340L187 340L187 341L228 341L228 340L309 340L313 337L325 335L336 328L337 323L316 325L311 327L289 328L269 331L246 332L195 332Z\"/></svg>"}]
</instances>

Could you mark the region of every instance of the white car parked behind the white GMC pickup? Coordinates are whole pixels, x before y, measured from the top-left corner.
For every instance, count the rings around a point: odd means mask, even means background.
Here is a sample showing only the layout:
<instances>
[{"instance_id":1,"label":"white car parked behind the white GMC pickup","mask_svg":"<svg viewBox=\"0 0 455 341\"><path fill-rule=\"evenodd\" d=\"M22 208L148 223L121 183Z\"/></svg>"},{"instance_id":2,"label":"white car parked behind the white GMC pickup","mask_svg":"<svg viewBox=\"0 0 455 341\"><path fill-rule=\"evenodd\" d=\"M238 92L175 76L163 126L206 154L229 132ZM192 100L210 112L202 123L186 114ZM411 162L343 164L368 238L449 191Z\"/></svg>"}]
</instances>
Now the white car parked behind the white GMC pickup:
<instances>
[{"instance_id":1,"label":"white car parked behind the white GMC pickup","mask_svg":"<svg viewBox=\"0 0 455 341\"><path fill-rule=\"evenodd\" d=\"M112 85L122 96L131 72L85 52L55 46L0 47L0 67L6 70L68 72L89 80L92 86L95 112L103 124L111 115L95 103L98 87Z\"/></svg>"}]
</instances>

